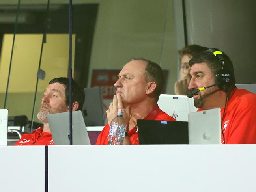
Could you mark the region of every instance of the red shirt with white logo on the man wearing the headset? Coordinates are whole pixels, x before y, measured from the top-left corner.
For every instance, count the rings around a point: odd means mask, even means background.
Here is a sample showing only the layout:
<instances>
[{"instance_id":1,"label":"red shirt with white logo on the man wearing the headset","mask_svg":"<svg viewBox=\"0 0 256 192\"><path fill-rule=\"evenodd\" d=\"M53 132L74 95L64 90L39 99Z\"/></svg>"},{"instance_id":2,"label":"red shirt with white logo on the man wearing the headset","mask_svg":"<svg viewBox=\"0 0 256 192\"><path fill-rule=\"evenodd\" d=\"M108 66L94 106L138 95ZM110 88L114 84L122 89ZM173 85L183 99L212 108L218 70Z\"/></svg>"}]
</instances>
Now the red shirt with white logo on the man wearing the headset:
<instances>
[{"instance_id":1,"label":"red shirt with white logo on the man wearing the headset","mask_svg":"<svg viewBox=\"0 0 256 192\"><path fill-rule=\"evenodd\" d=\"M202 109L198 109L202 111ZM224 107L221 109L221 118ZM222 121L225 144L256 144L256 94L235 88ZM223 137L221 135L223 143Z\"/></svg>"}]
</instances>

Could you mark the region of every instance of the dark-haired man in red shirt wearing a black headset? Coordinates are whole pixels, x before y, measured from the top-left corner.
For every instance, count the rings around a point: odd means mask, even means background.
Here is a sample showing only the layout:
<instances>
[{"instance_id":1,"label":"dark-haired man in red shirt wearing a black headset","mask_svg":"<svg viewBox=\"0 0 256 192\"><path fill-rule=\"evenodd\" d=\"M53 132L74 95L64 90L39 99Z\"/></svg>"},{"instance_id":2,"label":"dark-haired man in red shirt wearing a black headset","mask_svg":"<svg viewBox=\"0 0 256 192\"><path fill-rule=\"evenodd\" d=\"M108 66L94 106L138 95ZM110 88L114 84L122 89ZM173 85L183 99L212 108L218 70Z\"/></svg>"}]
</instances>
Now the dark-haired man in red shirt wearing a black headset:
<instances>
[{"instance_id":1,"label":"dark-haired man in red shirt wearing a black headset","mask_svg":"<svg viewBox=\"0 0 256 192\"><path fill-rule=\"evenodd\" d=\"M256 94L235 86L230 58L213 48L194 56L189 65L188 97L193 96L198 111L221 108L222 144L256 144Z\"/></svg>"}]
</instances>

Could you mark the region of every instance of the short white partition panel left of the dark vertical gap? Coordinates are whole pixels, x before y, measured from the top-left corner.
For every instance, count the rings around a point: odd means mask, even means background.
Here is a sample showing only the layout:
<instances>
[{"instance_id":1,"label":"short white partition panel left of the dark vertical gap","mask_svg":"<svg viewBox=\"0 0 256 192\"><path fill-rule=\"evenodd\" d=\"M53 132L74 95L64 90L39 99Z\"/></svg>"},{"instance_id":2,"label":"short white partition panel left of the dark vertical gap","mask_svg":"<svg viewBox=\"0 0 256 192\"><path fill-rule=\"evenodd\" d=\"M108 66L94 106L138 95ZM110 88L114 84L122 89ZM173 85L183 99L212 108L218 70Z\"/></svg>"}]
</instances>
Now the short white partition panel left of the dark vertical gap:
<instances>
[{"instance_id":1,"label":"short white partition panel left of the dark vertical gap","mask_svg":"<svg viewBox=\"0 0 256 192\"><path fill-rule=\"evenodd\" d=\"M45 192L45 146L0 146L0 191Z\"/></svg>"}]
</instances>

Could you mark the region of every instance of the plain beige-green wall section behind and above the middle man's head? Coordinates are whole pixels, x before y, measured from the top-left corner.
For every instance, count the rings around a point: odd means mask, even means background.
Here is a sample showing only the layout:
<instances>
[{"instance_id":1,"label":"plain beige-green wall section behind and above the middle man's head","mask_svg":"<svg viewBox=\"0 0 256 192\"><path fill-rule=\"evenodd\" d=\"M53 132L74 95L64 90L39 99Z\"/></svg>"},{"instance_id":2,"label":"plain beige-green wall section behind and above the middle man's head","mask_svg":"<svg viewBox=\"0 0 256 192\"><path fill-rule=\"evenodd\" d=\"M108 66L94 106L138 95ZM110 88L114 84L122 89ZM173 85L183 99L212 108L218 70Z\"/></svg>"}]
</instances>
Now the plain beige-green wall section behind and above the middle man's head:
<instances>
[{"instance_id":1,"label":"plain beige-green wall section behind and above the middle man's head","mask_svg":"<svg viewBox=\"0 0 256 192\"><path fill-rule=\"evenodd\" d=\"M143 57L158 64L162 58L162 69L169 69L167 92L174 93L173 85L177 79L177 52L172 1L169 4L167 0L102 0L100 2L90 71L121 69L127 60L133 57ZM88 86L91 75L92 73L89 74Z\"/></svg>"}]
</instances>

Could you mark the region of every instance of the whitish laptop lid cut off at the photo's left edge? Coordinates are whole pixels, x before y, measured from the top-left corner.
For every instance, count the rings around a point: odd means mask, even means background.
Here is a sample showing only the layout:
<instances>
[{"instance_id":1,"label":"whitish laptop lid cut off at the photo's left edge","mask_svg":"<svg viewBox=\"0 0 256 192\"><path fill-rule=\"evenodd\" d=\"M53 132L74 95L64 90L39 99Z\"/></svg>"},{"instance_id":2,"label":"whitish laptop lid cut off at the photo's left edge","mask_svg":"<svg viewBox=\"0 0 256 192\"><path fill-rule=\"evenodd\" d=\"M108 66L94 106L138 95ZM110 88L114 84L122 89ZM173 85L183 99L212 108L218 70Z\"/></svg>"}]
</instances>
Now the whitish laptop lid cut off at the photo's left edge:
<instances>
[{"instance_id":1,"label":"whitish laptop lid cut off at the photo's left edge","mask_svg":"<svg viewBox=\"0 0 256 192\"><path fill-rule=\"evenodd\" d=\"M0 109L0 145L7 145L8 110Z\"/></svg>"}]
</instances>

